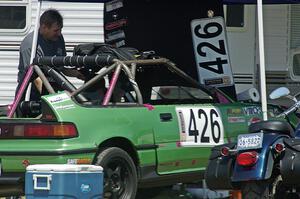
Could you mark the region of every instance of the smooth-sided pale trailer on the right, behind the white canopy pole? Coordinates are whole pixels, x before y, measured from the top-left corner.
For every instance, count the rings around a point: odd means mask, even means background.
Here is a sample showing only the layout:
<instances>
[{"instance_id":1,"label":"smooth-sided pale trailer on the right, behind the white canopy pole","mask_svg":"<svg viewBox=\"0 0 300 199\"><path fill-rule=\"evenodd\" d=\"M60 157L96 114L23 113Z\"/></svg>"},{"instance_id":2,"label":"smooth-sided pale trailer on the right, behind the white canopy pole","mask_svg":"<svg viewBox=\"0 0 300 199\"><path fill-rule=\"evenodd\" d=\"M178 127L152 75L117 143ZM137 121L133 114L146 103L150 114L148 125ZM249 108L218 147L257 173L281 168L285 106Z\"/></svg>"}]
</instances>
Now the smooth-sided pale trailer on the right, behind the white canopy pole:
<instances>
[{"instance_id":1,"label":"smooth-sided pale trailer on the right, behind the white canopy pole","mask_svg":"<svg viewBox=\"0 0 300 199\"><path fill-rule=\"evenodd\" d=\"M300 5L264 5L268 93L280 86L292 93L300 86ZM256 5L225 6L231 66L237 92L259 89Z\"/></svg>"}]
</instances>

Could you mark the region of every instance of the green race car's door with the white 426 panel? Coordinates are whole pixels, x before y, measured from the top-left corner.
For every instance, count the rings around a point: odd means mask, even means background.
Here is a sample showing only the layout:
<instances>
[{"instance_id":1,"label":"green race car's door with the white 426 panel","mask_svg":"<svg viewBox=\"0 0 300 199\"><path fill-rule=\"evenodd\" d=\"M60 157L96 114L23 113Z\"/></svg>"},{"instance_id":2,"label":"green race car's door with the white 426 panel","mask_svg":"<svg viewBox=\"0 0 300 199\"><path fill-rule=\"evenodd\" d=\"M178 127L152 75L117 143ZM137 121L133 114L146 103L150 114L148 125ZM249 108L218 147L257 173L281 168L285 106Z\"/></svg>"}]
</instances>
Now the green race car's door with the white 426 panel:
<instances>
[{"instance_id":1,"label":"green race car's door with the white 426 panel","mask_svg":"<svg viewBox=\"0 0 300 199\"><path fill-rule=\"evenodd\" d=\"M224 143L219 108L212 104L155 106L158 173L205 169L210 148Z\"/></svg>"}]
</instances>

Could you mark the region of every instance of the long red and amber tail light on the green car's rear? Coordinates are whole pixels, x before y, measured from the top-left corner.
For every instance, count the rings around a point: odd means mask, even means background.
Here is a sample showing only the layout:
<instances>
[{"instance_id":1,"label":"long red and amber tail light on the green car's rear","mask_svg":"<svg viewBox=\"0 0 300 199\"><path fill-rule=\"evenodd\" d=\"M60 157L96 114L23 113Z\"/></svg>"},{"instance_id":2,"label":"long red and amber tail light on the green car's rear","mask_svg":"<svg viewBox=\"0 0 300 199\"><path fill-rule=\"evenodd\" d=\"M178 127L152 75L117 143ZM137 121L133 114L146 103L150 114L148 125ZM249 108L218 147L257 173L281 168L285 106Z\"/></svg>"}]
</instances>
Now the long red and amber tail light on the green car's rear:
<instances>
[{"instance_id":1,"label":"long red and amber tail light on the green car's rear","mask_svg":"<svg viewBox=\"0 0 300 199\"><path fill-rule=\"evenodd\" d=\"M72 138L77 137L72 123L0 124L1 138Z\"/></svg>"}]
</instances>

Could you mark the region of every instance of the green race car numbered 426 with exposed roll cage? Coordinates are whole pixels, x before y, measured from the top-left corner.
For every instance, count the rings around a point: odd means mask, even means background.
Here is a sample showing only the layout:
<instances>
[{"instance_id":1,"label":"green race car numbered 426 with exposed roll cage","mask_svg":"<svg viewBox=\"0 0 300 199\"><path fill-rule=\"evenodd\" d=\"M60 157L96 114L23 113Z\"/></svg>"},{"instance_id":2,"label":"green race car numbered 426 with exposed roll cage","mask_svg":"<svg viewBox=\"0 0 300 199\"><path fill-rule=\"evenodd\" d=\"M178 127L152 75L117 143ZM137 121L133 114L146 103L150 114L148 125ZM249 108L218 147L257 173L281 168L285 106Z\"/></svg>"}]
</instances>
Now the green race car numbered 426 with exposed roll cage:
<instances>
[{"instance_id":1,"label":"green race car numbered 426 with exposed roll cage","mask_svg":"<svg viewBox=\"0 0 300 199\"><path fill-rule=\"evenodd\" d=\"M201 86L164 58L44 57L35 63L64 91L22 102L18 117L0 119L1 195L21 191L29 164L101 165L105 198L197 182L213 146L234 141L262 118L258 104ZM78 89L59 72L88 66L101 70ZM87 97L95 85L104 95Z\"/></svg>"}]
</instances>

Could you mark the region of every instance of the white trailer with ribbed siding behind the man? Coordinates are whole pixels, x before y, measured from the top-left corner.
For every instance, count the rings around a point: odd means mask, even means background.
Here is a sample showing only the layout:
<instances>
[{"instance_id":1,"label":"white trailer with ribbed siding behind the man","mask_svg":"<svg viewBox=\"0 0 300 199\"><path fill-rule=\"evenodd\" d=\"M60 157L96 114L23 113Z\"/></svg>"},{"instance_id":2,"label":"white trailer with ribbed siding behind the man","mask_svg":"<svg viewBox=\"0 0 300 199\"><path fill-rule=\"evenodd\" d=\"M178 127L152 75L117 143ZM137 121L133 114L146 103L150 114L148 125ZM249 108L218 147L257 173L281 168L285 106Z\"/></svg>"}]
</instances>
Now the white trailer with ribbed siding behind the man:
<instances>
[{"instance_id":1,"label":"white trailer with ribbed siding behind the man","mask_svg":"<svg viewBox=\"0 0 300 199\"><path fill-rule=\"evenodd\" d=\"M103 4L43 2L42 10L50 7L64 17L62 34L68 54L76 44L104 41ZM23 38L33 31L36 8L37 0L0 1L0 104L12 103L14 99L19 47Z\"/></svg>"}]
</instances>

